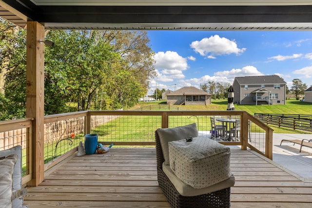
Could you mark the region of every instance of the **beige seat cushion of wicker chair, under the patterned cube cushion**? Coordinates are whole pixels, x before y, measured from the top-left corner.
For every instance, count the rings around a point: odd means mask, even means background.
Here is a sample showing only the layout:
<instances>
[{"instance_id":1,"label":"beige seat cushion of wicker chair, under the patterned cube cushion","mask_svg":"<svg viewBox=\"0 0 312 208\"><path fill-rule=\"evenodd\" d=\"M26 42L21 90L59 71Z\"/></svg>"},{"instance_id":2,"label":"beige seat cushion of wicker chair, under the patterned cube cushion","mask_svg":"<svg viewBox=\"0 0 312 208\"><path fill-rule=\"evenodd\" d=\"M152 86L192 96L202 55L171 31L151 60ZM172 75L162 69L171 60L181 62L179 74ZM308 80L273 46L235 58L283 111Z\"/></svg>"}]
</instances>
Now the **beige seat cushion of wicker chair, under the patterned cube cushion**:
<instances>
[{"instance_id":1,"label":"beige seat cushion of wicker chair, under the patterned cube cushion","mask_svg":"<svg viewBox=\"0 0 312 208\"><path fill-rule=\"evenodd\" d=\"M229 187L233 187L235 184L235 178L232 174L229 179L226 179L224 181L221 181L215 185L212 185L210 187L205 187L202 189L194 189L190 185L187 185L178 177L176 177L175 173L171 170L169 165L165 165L163 163L162 170L165 172L169 180L172 182L172 184L175 186L176 190L182 195L182 196L197 196L201 194L211 193L217 190L226 189Z\"/></svg>"}]
</instances>

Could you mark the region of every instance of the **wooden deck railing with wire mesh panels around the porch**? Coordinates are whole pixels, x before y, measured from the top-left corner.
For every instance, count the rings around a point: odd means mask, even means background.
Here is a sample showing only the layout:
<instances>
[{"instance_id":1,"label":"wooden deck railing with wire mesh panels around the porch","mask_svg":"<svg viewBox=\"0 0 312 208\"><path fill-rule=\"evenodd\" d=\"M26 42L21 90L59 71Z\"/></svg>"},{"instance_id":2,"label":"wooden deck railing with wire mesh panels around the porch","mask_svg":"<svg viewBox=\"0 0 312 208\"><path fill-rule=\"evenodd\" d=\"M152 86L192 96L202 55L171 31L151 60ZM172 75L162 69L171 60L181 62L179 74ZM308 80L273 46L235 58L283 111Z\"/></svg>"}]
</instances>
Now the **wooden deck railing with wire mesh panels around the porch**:
<instances>
[{"instance_id":1,"label":"wooden deck railing with wire mesh panels around the porch","mask_svg":"<svg viewBox=\"0 0 312 208\"><path fill-rule=\"evenodd\" d=\"M86 111L44 116L44 170L77 151L87 133L97 133L103 145L154 147L158 128L173 128L196 123L200 136L211 137L211 116L240 119L239 136L224 145L250 148L272 159L273 130L244 111ZM0 150L21 145L23 184L32 178L32 118L0 122ZM230 127L229 127L230 128Z\"/></svg>"}]
</instances>

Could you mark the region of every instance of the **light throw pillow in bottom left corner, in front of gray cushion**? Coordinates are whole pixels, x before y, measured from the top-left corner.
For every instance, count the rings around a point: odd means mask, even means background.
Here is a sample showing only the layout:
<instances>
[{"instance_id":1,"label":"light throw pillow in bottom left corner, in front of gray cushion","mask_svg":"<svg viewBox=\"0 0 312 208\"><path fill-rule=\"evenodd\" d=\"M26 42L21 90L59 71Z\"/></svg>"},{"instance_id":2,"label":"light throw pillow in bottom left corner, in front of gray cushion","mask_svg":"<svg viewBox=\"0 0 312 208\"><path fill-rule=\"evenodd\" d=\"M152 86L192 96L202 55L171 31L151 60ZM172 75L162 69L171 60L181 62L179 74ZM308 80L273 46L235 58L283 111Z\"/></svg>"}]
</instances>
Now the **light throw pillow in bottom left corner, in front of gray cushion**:
<instances>
[{"instance_id":1,"label":"light throw pillow in bottom left corner, in front of gray cushion","mask_svg":"<svg viewBox=\"0 0 312 208\"><path fill-rule=\"evenodd\" d=\"M12 154L0 160L0 206L12 207L13 171L18 155Z\"/></svg>"}]
</instances>

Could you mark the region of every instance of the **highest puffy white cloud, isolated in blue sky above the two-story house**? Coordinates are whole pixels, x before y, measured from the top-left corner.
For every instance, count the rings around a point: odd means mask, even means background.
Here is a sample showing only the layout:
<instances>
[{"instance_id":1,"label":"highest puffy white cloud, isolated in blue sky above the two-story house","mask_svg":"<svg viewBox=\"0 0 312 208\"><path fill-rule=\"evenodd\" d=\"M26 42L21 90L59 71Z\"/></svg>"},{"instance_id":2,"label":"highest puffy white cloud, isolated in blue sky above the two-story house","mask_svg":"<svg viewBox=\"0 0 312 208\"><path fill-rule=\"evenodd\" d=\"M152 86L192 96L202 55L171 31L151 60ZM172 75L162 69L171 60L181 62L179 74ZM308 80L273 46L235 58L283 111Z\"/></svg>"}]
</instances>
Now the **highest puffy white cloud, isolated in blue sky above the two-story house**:
<instances>
[{"instance_id":1,"label":"highest puffy white cloud, isolated in blue sky above the two-story house","mask_svg":"<svg viewBox=\"0 0 312 208\"><path fill-rule=\"evenodd\" d=\"M237 48L235 40L220 38L218 35L203 38L200 41L193 41L190 46L196 53L199 53L201 56L207 56L208 58L215 58L215 56L224 54L240 55L246 50L246 48Z\"/></svg>"}]
</instances>

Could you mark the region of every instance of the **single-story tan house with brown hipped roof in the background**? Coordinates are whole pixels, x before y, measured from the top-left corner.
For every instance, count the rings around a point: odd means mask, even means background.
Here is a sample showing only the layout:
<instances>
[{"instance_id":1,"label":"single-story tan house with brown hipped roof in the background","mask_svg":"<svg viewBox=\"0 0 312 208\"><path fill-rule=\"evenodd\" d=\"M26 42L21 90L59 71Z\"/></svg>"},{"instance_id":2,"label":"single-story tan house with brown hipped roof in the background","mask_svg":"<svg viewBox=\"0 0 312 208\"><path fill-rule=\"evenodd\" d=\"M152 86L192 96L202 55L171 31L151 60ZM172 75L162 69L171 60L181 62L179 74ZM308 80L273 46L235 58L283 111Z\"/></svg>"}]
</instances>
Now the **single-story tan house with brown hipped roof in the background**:
<instances>
[{"instance_id":1,"label":"single-story tan house with brown hipped roof in the background","mask_svg":"<svg viewBox=\"0 0 312 208\"><path fill-rule=\"evenodd\" d=\"M171 105L208 105L211 94L195 87L182 87L167 94L167 104Z\"/></svg>"}]
</instances>

